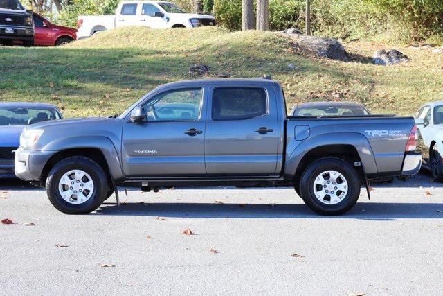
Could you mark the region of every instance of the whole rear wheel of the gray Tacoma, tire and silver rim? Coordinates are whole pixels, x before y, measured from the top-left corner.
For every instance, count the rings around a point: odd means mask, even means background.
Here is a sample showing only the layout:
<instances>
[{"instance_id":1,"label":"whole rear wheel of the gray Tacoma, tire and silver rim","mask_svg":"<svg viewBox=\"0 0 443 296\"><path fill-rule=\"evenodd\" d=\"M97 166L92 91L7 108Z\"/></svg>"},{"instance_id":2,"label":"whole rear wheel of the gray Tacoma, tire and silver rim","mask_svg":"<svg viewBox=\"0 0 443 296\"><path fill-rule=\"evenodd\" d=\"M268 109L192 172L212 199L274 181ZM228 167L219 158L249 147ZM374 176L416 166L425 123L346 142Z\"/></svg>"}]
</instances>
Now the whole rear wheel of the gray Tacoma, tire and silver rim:
<instances>
[{"instance_id":1,"label":"whole rear wheel of the gray Tacoma, tire and silver rim","mask_svg":"<svg viewBox=\"0 0 443 296\"><path fill-rule=\"evenodd\" d=\"M359 199L361 182L358 173L338 158L318 159L309 165L300 180L305 204L322 215L340 215Z\"/></svg>"}]
</instances>

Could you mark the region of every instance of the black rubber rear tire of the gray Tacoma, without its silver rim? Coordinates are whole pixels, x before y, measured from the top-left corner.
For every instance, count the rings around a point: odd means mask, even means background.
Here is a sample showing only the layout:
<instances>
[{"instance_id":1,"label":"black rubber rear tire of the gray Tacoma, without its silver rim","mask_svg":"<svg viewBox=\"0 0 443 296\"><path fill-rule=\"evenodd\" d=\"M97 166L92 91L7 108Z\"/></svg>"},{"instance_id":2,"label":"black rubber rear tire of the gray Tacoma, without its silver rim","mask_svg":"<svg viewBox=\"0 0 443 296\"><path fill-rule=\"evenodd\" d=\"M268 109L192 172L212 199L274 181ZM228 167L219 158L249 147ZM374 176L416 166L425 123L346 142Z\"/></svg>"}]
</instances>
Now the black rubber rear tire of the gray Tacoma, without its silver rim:
<instances>
[{"instance_id":1,"label":"black rubber rear tire of the gray Tacoma, without its silver rim","mask_svg":"<svg viewBox=\"0 0 443 296\"><path fill-rule=\"evenodd\" d=\"M327 204L316 198L314 182L316 177L325 171L336 171L343 175L347 182L347 193L337 204ZM355 169L343 159L334 157L318 159L310 164L300 180L302 199L310 209L321 215L341 215L349 211L359 199L360 187L359 174ZM331 200L330 197L329 200Z\"/></svg>"}]
</instances>

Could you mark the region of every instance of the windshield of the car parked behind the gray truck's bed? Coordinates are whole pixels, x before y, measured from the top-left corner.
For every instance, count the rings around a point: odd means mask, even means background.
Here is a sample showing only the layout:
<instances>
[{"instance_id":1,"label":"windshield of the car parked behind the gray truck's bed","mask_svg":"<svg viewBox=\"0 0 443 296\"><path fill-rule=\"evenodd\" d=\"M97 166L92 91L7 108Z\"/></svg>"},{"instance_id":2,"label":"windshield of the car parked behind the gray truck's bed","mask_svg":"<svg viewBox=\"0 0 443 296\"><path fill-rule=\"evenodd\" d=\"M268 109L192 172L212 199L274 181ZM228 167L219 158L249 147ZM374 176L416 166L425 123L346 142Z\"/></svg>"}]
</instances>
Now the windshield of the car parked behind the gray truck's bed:
<instances>
[{"instance_id":1,"label":"windshield of the car parked behind the gray truck's bed","mask_svg":"<svg viewBox=\"0 0 443 296\"><path fill-rule=\"evenodd\" d=\"M302 107L293 112L293 116L361 116L370 115L364 107Z\"/></svg>"}]
</instances>

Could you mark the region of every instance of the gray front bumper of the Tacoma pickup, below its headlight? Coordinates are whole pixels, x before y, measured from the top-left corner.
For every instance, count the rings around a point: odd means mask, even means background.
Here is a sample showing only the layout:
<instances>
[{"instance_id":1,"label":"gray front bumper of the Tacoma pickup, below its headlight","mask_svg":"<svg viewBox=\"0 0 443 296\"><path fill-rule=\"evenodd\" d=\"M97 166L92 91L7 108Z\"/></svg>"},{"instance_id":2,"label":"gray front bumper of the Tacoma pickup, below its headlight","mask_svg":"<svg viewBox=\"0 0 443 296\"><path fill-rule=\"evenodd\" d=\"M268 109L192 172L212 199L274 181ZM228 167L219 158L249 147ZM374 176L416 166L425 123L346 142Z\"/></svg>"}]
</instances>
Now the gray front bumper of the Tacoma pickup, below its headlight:
<instances>
[{"instance_id":1,"label":"gray front bumper of the Tacoma pickup, below its headlight","mask_svg":"<svg viewBox=\"0 0 443 296\"><path fill-rule=\"evenodd\" d=\"M25 150L15 151L15 175L25 181L39 181L43 168L57 151Z\"/></svg>"}]
</instances>

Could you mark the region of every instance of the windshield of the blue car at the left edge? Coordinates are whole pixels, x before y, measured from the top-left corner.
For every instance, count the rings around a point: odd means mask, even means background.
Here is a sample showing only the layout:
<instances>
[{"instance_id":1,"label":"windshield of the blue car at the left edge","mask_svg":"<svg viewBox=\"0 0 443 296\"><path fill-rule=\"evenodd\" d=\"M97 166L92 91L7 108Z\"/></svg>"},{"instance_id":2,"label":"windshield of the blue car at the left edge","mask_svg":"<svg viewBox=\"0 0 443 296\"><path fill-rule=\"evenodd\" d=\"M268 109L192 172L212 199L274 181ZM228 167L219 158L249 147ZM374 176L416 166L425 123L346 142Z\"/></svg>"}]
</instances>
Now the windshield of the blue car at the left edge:
<instances>
[{"instance_id":1,"label":"windshield of the blue car at the left edge","mask_svg":"<svg viewBox=\"0 0 443 296\"><path fill-rule=\"evenodd\" d=\"M30 125L54 119L60 119L55 110L0 107L0 125Z\"/></svg>"}]
</instances>

